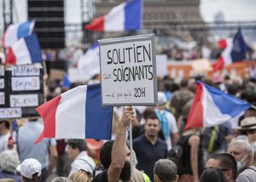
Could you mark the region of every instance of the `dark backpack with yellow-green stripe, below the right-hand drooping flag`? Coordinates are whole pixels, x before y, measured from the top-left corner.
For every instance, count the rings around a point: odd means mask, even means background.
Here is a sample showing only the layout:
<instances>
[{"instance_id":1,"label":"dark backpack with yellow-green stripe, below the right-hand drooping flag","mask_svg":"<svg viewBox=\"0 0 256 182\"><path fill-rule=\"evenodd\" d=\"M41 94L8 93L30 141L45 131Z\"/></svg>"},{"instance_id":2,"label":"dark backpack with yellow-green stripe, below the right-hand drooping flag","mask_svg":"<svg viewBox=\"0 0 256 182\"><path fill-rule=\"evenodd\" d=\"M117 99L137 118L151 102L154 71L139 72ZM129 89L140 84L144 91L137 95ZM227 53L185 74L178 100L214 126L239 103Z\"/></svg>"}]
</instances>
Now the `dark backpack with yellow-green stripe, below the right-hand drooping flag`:
<instances>
[{"instance_id":1,"label":"dark backpack with yellow-green stripe, below the right-hand drooping flag","mask_svg":"<svg viewBox=\"0 0 256 182\"><path fill-rule=\"evenodd\" d=\"M219 134L218 125L209 128L203 128L202 130L202 146L208 153L217 151L221 145L221 137Z\"/></svg>"}]
</instances>

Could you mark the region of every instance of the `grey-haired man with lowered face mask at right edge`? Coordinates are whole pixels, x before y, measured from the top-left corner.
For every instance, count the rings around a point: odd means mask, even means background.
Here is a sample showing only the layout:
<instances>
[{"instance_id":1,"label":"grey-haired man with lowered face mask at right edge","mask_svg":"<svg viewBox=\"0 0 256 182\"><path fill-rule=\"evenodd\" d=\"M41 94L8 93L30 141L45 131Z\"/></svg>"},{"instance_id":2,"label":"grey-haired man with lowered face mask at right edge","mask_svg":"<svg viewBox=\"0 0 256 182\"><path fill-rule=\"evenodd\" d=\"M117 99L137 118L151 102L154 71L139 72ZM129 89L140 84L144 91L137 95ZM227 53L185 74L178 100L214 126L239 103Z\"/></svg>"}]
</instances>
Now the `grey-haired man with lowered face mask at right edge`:
<instances>
[{"instance_id":1,"label":"grey-haired man with lowered face mask at right edge","mask_svg":"<svg viewBox=\"0 0 256 182\"><path fill-rule=\"evenodd\" d=\"M253 166L253 146L245 139L234 139L229 152L236 158L238 176L236 182L256 182L256 167Z\"/></svg>"}]
</instances>

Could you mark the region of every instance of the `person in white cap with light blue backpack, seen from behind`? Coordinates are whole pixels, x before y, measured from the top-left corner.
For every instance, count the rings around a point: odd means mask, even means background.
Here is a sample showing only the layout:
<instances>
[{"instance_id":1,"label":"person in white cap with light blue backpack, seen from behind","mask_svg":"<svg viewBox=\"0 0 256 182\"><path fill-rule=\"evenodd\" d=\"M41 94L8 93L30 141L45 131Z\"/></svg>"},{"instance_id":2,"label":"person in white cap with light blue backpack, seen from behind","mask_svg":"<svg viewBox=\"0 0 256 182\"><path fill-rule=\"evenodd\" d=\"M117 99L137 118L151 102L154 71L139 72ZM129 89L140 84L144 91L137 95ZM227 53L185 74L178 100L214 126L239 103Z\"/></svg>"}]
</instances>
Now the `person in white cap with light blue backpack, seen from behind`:
<instances>
[{"instance_id":1,"label":"person in white cap with light blue backpack, seen from behind","mask_svg":"<svg viewBox=\"0 0 256 182\"><path fill-rule=\"evenodd\" d=\"M168 151L177 143L177 122L171 112L165 110L166 94L158 92L158 105L154 111L159 118L160 128L165 136Z\"/></svg>"}]
</instances>

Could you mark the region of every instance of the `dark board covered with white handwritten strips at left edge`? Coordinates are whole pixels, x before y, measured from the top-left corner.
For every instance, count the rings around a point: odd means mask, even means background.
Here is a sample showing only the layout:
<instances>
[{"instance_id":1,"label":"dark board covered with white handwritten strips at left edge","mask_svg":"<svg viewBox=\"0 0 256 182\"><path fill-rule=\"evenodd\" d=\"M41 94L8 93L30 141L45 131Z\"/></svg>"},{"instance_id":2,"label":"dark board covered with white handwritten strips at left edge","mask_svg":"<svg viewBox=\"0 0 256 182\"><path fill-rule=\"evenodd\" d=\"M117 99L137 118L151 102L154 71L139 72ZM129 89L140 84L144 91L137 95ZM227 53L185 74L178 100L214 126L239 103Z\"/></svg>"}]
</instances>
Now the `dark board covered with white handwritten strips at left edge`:
<instances>
[{"instance_id":1,"label":"dark board covered with white handwritten strips at left edge","mask_svg":"<svg viewBox=\"0 0 256 182\"><path fill-rule=\"evenodd\" d=\"M0 119L36 117L44 103L41 65L0 66Z\"/></svg>"}]
</instances>

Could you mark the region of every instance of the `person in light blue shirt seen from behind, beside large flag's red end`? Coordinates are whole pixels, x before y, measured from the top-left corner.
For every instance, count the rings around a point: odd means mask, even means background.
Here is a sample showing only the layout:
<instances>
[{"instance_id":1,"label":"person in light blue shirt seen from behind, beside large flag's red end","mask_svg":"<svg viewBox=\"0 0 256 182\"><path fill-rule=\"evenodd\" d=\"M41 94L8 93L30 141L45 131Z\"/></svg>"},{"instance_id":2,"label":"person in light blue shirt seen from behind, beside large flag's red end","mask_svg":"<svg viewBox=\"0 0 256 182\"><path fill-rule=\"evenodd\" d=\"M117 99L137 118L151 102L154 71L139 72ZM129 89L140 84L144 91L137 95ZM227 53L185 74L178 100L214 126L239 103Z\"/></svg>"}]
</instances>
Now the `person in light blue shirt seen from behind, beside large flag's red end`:
<instances>
[{"instance_id":1,"label":"person in light blue shirt seen from behind, beside large flag's red end","mask_svg":"<svg viewBox=\"0 0 256 182\"><path fill-rule=\"evenodd\" d=\"M26 158L35 158L42 165L42 181L52 172L57 161L57 150L55 139L44 139L37 145L34 144L39 134L44 129L41 118L31 118L17 130L17 149L20 162Z\"/></svg>"}]
</instances>

